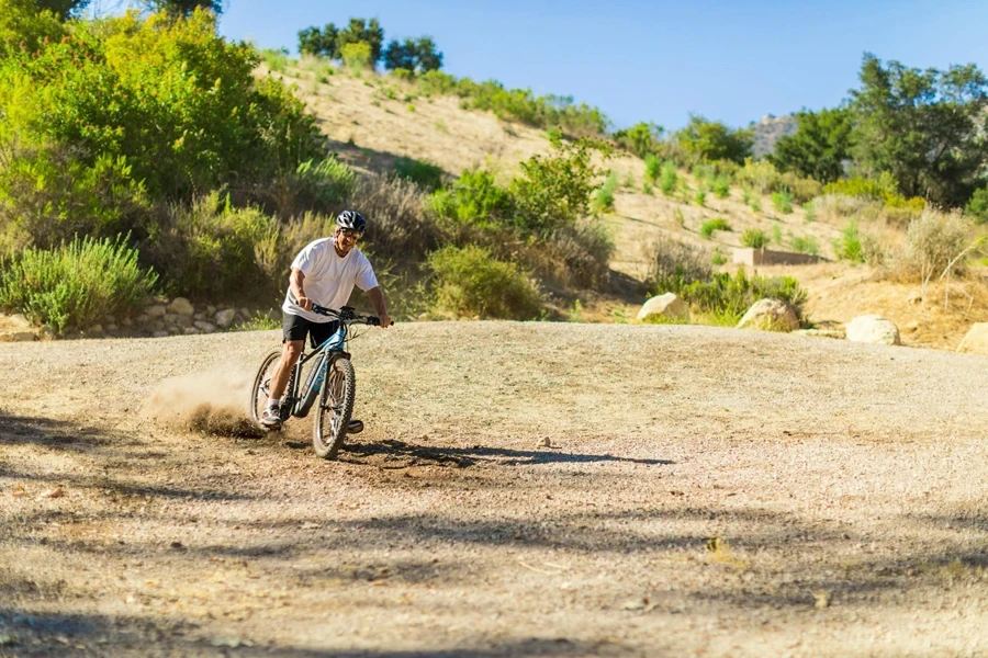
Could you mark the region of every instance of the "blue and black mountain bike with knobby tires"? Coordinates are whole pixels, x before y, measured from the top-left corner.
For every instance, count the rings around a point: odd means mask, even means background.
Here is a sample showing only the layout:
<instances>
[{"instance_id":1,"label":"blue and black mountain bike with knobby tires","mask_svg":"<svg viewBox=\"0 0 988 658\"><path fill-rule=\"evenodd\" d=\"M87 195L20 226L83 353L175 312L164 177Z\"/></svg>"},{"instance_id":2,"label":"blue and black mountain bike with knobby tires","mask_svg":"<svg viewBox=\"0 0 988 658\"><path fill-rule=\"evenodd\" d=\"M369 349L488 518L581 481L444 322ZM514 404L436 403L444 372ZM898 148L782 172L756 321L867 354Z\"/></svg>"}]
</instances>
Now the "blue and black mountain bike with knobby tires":
<instances>
[{"instance_id":1,"label":"blue and black mountain bike with knobby tires","mask_svg":"<svg viewBox=\"0 0 988 658\"><path fill-rule=\"evenodd\" d=\"M334 318L339 322L339 328L321 345L314 345L314 350L307 355L303 345L299 363L289 377L279 412L282 423L292 416L305 418L318 400L312 424L312 446L318 456L333 460L343 447L347 434L357 434L363 430L363 423L351 420L357 375L350 354L346 351L347 343L358 336L353 330L355 325L377 327L380 320L373 316L360 315L349 306L336 311L313 304L312 310ZM281 353L282 348L277 348L263 358L250 387L250 418L258 427Z\"/></svg>"}]
</instances>

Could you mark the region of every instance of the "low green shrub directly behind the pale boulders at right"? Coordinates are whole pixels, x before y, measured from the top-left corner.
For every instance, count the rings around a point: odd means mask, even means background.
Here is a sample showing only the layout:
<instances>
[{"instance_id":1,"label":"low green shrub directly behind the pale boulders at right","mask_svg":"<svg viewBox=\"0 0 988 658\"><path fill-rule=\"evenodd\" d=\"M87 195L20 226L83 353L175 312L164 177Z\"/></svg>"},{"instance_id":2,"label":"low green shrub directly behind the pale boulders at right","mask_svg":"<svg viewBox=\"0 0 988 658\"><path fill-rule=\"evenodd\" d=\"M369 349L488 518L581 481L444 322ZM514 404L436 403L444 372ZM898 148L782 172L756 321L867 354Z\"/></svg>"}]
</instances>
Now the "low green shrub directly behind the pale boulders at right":
<instances>
[{"instance_id":1,"label":"low green shrub directly behind the pale boulders at right","mask_svg":"<svg viewBox=\"0 0 988 658\"><path fill-rule=\"evenodd\" d=\"M709 279L694 281L678 291L684 302L700 314L708 314L718 325L737 325L752 304L763 298L781 299L793 307L802 320L806 290L791 276L748 276L743 269L731 276L715 272Z\"/></svg>"}]
</instances>

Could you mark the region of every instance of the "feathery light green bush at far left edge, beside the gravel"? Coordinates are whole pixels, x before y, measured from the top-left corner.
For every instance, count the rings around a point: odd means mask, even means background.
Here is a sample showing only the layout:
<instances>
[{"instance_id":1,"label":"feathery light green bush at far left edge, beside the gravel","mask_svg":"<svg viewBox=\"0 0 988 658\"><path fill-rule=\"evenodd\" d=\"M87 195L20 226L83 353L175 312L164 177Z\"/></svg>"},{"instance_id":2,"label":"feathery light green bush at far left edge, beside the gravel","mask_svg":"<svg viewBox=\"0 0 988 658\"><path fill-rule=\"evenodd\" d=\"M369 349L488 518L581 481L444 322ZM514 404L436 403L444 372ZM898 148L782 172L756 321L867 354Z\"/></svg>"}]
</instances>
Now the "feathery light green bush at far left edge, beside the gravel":
<instances>
[{"instance_id":1,"label":"feathery light green bush at far left edge, beside the gravel","mask_svg":"<svg viewBox=\"0 0 988 658\"><path fill-rule=\"evenodd\" d=\"M20 310L56 333L130 315L157 274L137 265L126 238L78 238L57 249L26 249L0 265L0 307Z\"/></svg>"}]
</instances>

